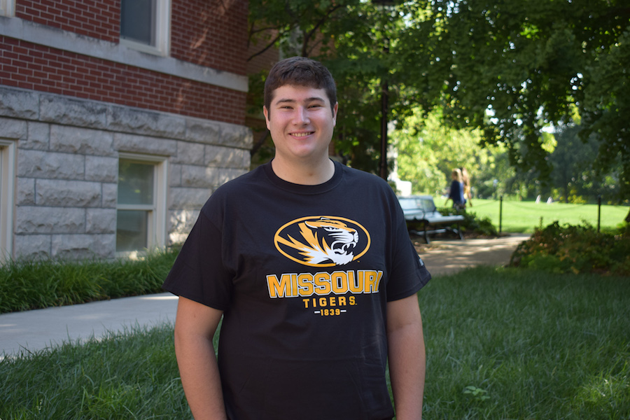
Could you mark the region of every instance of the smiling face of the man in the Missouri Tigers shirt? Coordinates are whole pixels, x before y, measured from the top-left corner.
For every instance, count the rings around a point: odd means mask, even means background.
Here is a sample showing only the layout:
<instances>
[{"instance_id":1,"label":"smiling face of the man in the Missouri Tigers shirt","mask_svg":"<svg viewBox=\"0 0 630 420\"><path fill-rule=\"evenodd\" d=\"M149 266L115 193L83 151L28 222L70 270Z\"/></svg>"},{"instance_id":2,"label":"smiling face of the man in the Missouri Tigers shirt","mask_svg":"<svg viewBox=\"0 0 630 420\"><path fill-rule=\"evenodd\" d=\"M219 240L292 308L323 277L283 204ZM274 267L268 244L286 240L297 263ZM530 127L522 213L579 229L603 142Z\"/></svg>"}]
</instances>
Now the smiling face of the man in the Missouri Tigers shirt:
<instances>
[{"instance_id":1,"label":"smiling face of the man in the Missouri Tigers shirt","mask_svg":"<svg viewBox=\"0 0 630 420\"><path fill-rule=\"evenodd\" d=\"M283 85L274 91L269 109L263 112L277 160L295 163L328 159L337 104L330 109L325 90Z\"/></svg>"}]
</instances>

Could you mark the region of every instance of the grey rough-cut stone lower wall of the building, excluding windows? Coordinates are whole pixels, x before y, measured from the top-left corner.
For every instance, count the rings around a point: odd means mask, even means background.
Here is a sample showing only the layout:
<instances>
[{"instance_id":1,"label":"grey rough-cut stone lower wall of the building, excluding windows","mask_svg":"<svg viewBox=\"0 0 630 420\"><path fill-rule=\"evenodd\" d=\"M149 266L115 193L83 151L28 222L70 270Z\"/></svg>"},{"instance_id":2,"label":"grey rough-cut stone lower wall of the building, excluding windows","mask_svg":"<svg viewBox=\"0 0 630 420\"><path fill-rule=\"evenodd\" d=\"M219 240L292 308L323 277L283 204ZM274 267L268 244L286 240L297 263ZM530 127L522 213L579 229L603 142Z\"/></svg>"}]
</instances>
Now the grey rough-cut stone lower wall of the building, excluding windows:
<instances>
[{"instance_id":1,"label":"grey rough-cut stone lower wall of the building, excluding windows","mask_svg":"<svg viewBox=\"0 0 630 420\"><path fill-rule=\"evenodd\" d=\"M13 258L115 257L123 152L168 158L168 241L182 241L251 148L242 125L12 87L0 87L0 139L18 145Z\"/></svg>"}]
</instances>

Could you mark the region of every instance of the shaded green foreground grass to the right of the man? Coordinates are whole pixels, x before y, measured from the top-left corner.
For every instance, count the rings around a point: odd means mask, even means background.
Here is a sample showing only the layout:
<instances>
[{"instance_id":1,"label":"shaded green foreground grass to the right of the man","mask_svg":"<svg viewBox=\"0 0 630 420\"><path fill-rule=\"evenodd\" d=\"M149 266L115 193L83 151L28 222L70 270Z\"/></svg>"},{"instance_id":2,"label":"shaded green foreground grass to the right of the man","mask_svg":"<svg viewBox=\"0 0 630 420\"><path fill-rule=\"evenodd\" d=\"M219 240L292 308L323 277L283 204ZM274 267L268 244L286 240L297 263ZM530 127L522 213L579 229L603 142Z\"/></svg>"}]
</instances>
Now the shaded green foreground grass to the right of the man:
<instances>
[{"instance_id":1,"label":"shaded green foreground grass to the right of the man","mask_svg":"<svg viewBox=\"0 0 630 420\"><path fill-rule=\"evenodd\" d=\"M629 419L629 292L623 277L519 269L433 279L426 419Z\"/></svg>"}]
</instances>

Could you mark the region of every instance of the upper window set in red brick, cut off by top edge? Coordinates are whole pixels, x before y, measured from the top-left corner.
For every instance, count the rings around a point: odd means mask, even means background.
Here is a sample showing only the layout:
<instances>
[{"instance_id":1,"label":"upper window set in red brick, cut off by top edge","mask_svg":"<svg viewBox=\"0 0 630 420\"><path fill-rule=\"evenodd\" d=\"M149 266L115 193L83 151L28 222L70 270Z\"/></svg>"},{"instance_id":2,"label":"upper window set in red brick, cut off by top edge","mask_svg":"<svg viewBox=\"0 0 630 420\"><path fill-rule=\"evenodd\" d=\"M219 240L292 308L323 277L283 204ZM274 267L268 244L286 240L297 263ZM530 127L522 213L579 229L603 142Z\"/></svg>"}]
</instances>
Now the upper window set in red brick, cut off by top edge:
<instances>
[{"instance_id":1,"label":"upper window set in red brick, cut off by top edge","mask_svg":"<svg viewBox=\"0 0 630 420\"><path fill-rule=\"evenodd\" d=\"M130 48L169 54L171 0L122 0L120 41Z\"/></svg>"}]
</instances>

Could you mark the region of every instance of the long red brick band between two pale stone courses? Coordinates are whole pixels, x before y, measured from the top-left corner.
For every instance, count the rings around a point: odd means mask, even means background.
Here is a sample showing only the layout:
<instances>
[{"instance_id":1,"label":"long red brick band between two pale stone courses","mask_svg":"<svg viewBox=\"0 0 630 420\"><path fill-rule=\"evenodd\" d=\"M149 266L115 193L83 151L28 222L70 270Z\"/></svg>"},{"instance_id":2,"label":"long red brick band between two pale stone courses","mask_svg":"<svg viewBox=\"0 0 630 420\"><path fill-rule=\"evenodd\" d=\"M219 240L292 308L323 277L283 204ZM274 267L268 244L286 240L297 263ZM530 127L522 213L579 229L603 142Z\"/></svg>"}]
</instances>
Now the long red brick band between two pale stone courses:
<instances>
[{"instance_id":1,"label":"long red brick band between two pale stone courses","mask_svg":"<svg viewBox=\"0 0 630 420\"><path fill-rule=\"evenodd\" d=\"M0 37L0 84L244 124L246 93Z\"/></svg>"}]
</instances>

